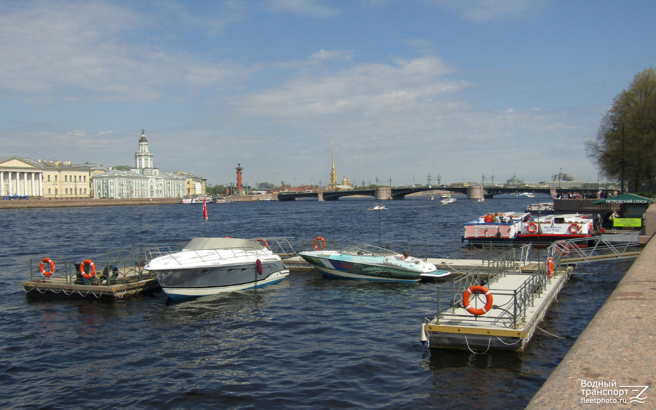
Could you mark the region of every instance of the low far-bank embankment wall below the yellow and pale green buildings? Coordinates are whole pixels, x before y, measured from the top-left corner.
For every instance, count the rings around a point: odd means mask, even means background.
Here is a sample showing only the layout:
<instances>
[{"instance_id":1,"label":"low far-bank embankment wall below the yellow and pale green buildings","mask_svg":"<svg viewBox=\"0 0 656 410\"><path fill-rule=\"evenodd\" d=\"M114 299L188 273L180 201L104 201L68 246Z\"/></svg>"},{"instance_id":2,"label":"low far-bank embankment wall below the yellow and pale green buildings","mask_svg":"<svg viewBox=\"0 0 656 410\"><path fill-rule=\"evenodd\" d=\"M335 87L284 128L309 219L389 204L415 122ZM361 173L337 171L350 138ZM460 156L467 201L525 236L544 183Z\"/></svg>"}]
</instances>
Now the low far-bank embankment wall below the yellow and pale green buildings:
<instances>
[{"instance_id":1,"label":"low far-bank embankment wall below the yellow and pale green buildings","mask_svg":"<svg viewBox=\"0 0 656 410\"><path fill-rule=\"evenodd\" d=\"M179 198L125 198L125 199L55 199L30 198L24 200L0 200L0 210L17 208L61 208L64 206L119 206L178 204Z\"/></svg>"}]
</instances>

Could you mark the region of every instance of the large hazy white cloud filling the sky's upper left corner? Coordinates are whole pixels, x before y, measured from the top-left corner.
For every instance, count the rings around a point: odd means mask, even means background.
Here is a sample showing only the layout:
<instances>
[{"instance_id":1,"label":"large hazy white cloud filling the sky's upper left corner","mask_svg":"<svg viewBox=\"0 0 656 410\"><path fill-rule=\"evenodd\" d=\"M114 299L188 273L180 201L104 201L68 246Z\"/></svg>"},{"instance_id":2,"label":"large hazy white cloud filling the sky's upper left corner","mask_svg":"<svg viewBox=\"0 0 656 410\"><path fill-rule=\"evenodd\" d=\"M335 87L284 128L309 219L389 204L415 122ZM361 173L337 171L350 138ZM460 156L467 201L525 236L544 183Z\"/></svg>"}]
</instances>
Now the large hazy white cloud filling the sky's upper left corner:
<instances>
[{"instance_id":1,"label":"large hazy white cloud filling the sky's upper left corner","mask_svg":"<svg viewBox=\"0 0 656 410\"><path fill-rule=\"evenodd\" d=\"M0 88L19 98L162 98L198 86L230 84L251 71L130 41L148 18L104 1L30 3L0 12ZM181 91L182 90L182 91ZM63 97L62 97L63 96Z\"/></svg>"}]
</instances>

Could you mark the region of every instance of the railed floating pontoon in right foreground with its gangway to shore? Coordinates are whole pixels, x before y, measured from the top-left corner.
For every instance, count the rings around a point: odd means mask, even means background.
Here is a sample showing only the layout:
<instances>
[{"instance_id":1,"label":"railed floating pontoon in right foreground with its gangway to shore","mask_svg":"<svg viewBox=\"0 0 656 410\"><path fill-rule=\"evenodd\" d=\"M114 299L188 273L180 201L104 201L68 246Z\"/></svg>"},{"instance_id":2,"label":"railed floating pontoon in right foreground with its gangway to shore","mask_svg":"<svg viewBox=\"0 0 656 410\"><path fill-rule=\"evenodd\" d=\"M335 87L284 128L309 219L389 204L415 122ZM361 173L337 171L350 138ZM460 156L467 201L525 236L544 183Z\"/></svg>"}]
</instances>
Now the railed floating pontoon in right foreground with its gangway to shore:
<instances>
[{"instance_id":1,"label":"railed floating pontoon in right foreground with its gangway to shore","mask_svg":"<svg viewBox=\"0 0 656 410\"><path fill-rule=\"evenodd\" d=\"M487 269L469 272L452 286L438 287L438 312L434 319L424 320L422 341L427 340L432 348L475 353L523 352L573 272L571 265L625 259L640 253L637 242L612 244L598 238L594 246L579 247L579 243L587 245L587 242L588 238L585 242L555 242L541 251L537 262L524 259L527 252L522 251L521 260L516 260L518 253L506 252L489 261ZM552 269L548 259L552 260ZM493 299L491 308L482 314L476 312L478 316L463 306L464 292L472 286L484 286ZM474 293L473 296L468 300L471 307L478 309L486 305L485 295Z\"/></svg>"}]
</instances>

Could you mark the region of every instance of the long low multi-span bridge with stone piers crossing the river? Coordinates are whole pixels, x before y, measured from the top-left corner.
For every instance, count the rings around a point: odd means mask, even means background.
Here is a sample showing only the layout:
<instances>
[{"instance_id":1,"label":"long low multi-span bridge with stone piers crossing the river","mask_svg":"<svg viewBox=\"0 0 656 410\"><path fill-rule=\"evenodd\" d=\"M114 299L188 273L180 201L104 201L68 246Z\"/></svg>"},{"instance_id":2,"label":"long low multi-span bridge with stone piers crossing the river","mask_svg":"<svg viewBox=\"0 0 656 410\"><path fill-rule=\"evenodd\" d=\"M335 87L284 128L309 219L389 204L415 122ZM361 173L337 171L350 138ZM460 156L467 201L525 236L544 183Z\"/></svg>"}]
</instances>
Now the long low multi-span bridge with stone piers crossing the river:
<instances>
[{"instance_id":1,"label":"long low multi-span bridge with stone piers crossing the river","mask_svg":"<svg viewBox=\"0 0 656 410\"><path fill-rule=\"evenodd\" d=\"M405 199L405 195L410 195L425 191L451 191L452 193L466 194L468 199L493 198L495 195L516 194L516 193L540 193L549 196L564 195L566 193L582 193L586 195L596 195L599 189L581 189L581 188L529 188L529 187L484 187L481 185L472 185L469 187L446 187L444 185L436 186L425 185L424 187L377 187L376 189L349 189L347 191L318 191L318 192L281 192L278 193L278 200L296 200L297 198L319 198L323 200L338 200L342 196L373 196L376 200L388 199ZM602 191L612 191L609 189Z\"/></svg>"}]
</instances>

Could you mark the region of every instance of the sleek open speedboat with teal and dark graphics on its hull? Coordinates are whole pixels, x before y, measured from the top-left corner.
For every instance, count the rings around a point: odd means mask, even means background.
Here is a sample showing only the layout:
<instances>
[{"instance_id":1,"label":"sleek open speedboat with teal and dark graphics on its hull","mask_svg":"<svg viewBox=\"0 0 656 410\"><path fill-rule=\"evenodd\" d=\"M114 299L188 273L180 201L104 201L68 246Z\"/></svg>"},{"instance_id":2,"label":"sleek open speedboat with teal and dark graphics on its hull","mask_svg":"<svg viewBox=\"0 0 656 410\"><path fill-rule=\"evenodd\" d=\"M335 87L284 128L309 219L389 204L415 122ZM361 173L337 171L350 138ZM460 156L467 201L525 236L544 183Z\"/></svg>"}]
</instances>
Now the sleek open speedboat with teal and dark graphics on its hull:
<instances>
[{"instance_id":1,"label":"sleek open speedboat with teal and dark graphics on its hull","mask_svg":"<svg viewBox=\"0 0 656 410\"><path fill-rule=\"evenodd\" d=\"M451 273L438 270L424 259L404 258L400 253L373 245L353 245L338 251L300 252L298 255L319 272L338 278L417 282L422 278L440 278Z\"/></svg>"}]
</instances>

